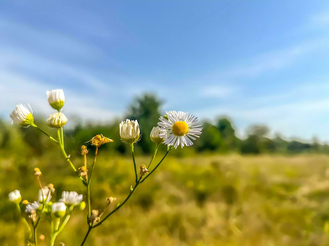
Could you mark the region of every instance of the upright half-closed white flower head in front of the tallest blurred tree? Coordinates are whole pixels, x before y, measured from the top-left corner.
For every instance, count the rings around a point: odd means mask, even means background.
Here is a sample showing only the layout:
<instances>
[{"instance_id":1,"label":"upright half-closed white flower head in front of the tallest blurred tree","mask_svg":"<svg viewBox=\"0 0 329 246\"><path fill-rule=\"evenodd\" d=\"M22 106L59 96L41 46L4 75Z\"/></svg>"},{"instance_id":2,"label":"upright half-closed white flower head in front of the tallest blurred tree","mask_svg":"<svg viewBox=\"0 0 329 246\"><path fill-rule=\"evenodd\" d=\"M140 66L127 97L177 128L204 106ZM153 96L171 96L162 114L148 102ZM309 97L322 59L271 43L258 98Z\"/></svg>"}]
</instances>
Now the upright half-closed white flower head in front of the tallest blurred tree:
<instances>
[{"instance_id":1,"label":"upright half-closed white flower head in front of the tallest blurred tree","mask_svg":"<svg viewBox=\"0 0 329 246\"><path fill-rule=\"evenodd\" d=\"M133 144L139 140L139 124L137 120L126 119L119 125L122 141Z\"/></svg>"}]
</instances>

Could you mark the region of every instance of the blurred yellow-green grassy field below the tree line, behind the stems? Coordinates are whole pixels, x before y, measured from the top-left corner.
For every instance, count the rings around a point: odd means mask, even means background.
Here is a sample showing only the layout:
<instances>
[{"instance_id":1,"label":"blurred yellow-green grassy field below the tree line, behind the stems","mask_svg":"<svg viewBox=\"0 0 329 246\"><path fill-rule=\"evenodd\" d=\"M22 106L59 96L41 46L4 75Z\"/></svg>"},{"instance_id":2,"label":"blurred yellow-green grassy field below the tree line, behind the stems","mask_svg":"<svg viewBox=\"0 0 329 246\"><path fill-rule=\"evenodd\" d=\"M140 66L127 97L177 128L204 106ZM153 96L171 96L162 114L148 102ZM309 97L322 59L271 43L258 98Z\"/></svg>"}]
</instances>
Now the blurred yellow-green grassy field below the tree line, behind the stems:
<instances>
[{"instance_id":1,"label":"blurred yellow-green grassy field below the tree line, behind the stems","mask_svg":"<svg viewBox=\"0 0 329 246\"><path fill-rule=\"evenodd\" d=\"M78 158L74 161L81 163ZM91 193L93 208L102 209L107 196L116 202L125 198L134 172L129 157L101 150L98 158ZM149 158L136 161L145 164ZM170 156L126 205L92 231L87 245L327 245L328 162L329 156L315 154ZM36 199L35 166L43 182L54 183L57 199L63 190L85 194L59 151L42 158L3 158L2 245L23 245L7 195L19 188L23 198ZM81 243L88 229L85 213L74 211L57 245ZM48 230L43 221L38 233Z\"/></svg>"}]
</instances>

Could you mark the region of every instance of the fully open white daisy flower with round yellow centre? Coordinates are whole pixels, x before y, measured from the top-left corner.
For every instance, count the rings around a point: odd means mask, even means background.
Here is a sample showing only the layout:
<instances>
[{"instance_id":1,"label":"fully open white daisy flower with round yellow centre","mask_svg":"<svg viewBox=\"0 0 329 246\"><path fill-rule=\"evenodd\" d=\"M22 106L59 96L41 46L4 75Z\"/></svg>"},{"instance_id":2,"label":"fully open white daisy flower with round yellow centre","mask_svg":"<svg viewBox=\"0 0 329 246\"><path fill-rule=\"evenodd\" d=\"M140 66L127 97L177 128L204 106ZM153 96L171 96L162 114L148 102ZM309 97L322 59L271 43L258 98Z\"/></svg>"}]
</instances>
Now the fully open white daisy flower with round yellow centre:
<instances>
[{"instance_id":1,"label":"fully open white daisy flower with round yellow centre","mask_svg":"<svg viewBox=\"0 0 329 246\"><path fill-rule=\"evenodd\" d=\"M160 117L161 122L158 122L160 128L159 136L164 139L164 144L168 146L174 146L175 149L179 145L183 148L184 145L193 145L192 141L195 140L197 135L201 134L202 125L199 124L199 120L189 112L178 111L166 111L167 118Z\"/></svg>"}]
</instances>

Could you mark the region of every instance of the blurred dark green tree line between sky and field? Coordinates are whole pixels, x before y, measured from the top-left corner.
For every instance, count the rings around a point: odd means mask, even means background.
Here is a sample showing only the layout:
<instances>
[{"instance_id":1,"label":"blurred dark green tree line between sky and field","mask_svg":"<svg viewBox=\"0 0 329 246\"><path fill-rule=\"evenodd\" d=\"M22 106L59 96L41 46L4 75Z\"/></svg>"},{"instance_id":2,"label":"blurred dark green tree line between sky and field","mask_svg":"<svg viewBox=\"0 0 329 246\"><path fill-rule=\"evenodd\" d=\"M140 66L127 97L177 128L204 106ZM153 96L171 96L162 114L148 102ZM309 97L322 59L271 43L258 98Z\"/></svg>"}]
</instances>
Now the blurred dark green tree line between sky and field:
<instances>
[{"instance_id":1,"label":"blurred dark green tree line between sky and field","mask_svg":"<svg viewBox=\"0 0 329 246\"><path fill-rule=\"evenodd\" d=\"M159 115L162 101L153 94L143 94L134 99L128 107L125 118L137 119L139 121L142 137L136 145L136 151L144 154L151 154L154 151L154 143L149 138L152 128L159 122ZM48 133L56 136L56 131L50 129L38 119L36 123ZM125 119L124 118L124 119ZM130 153L128 146L120 141L119 123L122 119L114 119L110 124L76 124L73 129L64 130L65 148L71 151L70 154L79 154L80 146L88 145L87 141L96 134L102 133L104 136L114 140L113 143L105 145L108 151L113 153ZM247 138L240 139L236 136L232 122L221 117L213 124L208 121L202 122L202 135L190 148L183 148L176 155L190 154L191 152L217 152L228 153L238 152L241 154L261 154L261 153L329 153L329 146L321 145L316 138L313 143L303 143L296 140L287 141L276 135L269 138L268 127L264 125L252 125L247 130ZM11 154L20 154L22 152L42 155L49 150L51 143L46 136L39 133L37 129L29 127L11 126L0 121L0 150ZM92 149L89 146L89 149ZM161 149L162 148L162 149ZM165 151L165 146L161 146L160 151Z\"/></svg>"}]
</instances>

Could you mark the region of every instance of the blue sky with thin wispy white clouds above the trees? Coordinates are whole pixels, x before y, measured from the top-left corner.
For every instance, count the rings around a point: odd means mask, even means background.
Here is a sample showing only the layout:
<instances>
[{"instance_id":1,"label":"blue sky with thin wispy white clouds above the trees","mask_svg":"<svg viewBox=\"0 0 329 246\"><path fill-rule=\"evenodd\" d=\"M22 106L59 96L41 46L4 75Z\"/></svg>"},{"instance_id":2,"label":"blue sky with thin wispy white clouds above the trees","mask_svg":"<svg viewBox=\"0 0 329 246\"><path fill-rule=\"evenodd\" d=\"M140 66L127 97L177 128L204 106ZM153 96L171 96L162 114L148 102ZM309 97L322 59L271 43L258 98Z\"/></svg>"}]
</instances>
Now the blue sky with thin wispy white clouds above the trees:
<instances>
[{"instance_id":1,"label":"blue sky with thin wispy white clouds above the trees","mask_svg":"<svg viewBox=\"0 0 329 246\"><path fill-rule=\"evenodd\" d=\"M0 115L18 103L122 117L154 92L165 110L228 115L272 134L329 141L327 1L1 1Z\"/></svg>"}]
</instances>

